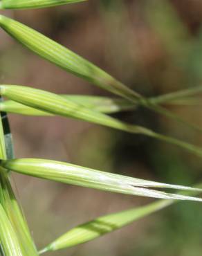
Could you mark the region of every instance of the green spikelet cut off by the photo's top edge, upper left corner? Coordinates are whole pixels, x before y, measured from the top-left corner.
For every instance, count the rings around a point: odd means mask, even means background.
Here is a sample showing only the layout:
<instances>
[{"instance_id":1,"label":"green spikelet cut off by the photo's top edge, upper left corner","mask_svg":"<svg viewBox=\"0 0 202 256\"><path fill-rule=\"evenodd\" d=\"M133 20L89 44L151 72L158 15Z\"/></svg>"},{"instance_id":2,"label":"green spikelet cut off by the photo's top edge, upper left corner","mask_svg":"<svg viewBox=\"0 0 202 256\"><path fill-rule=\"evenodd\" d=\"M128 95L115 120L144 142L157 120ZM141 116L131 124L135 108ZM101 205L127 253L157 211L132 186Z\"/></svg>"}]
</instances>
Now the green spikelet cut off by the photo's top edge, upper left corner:
<instances>
[{"instance_id":1,"label":"green spikelet cut off by the photo's top edge, upper left corner","mask_svg":"<svg viewBox=\"0 0 202 256\"><path fill-rule=\"evenodd\" d=\"M86 0L1 0L1 9L30 9L50 6L62 6L67 3L79 3Z\"/></svg>"}]
</instances>

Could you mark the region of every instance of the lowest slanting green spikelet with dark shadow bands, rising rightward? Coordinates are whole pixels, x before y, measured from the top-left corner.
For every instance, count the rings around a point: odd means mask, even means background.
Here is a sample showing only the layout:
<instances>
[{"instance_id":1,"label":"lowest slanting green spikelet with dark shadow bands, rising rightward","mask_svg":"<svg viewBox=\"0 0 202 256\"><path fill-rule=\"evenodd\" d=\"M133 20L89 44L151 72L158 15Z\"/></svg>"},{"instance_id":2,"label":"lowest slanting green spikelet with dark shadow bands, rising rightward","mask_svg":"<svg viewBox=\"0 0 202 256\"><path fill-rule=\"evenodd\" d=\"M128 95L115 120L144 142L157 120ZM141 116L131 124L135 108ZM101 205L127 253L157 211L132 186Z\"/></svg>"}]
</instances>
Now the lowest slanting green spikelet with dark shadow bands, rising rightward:
<instances>
[{"instance_id":1,"label":"lowest slanting green spikelet with dark shadow bands, rising rightward","mask_svg":"<svg viewBox=\"0 0 202 256\"><path fill-rule=\"evenodd\" d=\"M199 187L201 187L201 184ZM195 192L194 194L196 193L198 192ZM122 228L133 221L137 221L138 219L142 219L143 217L146 217L147 215L157 212L158 210L161 210L176 202L177 201L172 199L159 200L145 206L131 208L122 212L107 214L99 217L98 219L93 219L93 221L79 225L69 230L61 237L58 237L55 241L48 244L48 246L46 246L44 249L40 250L39 254L86 243L87 241L91 241L109 232L113 232L114 230Z\"/></svg>"}]
</instances>

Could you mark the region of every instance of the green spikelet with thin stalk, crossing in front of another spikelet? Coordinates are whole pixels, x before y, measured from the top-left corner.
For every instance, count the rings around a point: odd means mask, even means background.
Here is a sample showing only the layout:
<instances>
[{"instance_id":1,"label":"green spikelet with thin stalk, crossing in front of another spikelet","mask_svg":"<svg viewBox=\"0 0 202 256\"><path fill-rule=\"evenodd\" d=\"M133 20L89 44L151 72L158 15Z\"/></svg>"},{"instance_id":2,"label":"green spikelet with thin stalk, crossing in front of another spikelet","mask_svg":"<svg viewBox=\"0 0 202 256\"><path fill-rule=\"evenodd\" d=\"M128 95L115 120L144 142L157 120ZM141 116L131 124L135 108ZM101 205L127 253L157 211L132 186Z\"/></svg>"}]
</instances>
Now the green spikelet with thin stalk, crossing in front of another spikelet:
<instances>
[{"instance_id":1,"label":"green spikelet with thin stalk, crossing in front of another spikelet","mask_svg":"<svg viewBox=\"0 0 202 256\"><path fill-rule=\"evenodd\" d=\"M197 156L202 156L202 149L200 147L185 143L181 140L177 140L176 138L157 134L145 127L121 122L120 120L107 116L104 113L87 109L81 104L73 102L73 100L68 100L67 98L63 98L54 93L33 89L27 86L3 84L0 86L0 94L6 96L10 100L14 100L41 111L46 111L48 113L68 118L76 118L87 122L93 122L98 125L127 131L131 134L144 134L145 136L150 136L158 140L166 141L167 143L178 145L178 147L182 147Z\"/></svg>"}]
</instances>

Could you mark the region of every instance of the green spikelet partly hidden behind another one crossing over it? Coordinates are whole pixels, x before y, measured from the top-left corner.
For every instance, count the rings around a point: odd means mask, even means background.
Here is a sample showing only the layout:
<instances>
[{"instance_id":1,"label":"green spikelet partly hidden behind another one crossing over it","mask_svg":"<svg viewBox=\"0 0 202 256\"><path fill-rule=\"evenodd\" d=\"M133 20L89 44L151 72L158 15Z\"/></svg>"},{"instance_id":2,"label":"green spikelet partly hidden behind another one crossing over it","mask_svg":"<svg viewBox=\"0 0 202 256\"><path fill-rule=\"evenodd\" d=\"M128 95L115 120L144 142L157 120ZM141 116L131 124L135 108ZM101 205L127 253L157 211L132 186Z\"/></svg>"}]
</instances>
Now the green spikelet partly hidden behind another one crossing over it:
<instances>
[{"instance_id":1,"label":"green spikelet partly hidden behind another one crossing over it","mask_svg":"<svg viewBox=\"0 0 202 256\"><path fill-rule=\"evenodd\" d=\"M196 95L196 93L201 93L201 91L202 86L197 86L191 89L185 89L181 91L175 91L173 93L160 95L154 98L150 98L150 100L152 102L160 104L196 105L200 104L201 100L200 98L192 98L192 95ZM92 109L94 111L99 111L103 113L132 111L135 110L136 107L138 106L138 102L134 104L121 98L109 98L94 95L60 96L66 98L67 100L76 102L77 104L82 104L84 107L88 109ZM38 109L28 107L24 104L20 104L12 100L0 102L0 110L6 111L8 113L18 113L26 116L53 116L53 114L50 114L48 112L40 111Z\"/></svg>"}]
</instances>

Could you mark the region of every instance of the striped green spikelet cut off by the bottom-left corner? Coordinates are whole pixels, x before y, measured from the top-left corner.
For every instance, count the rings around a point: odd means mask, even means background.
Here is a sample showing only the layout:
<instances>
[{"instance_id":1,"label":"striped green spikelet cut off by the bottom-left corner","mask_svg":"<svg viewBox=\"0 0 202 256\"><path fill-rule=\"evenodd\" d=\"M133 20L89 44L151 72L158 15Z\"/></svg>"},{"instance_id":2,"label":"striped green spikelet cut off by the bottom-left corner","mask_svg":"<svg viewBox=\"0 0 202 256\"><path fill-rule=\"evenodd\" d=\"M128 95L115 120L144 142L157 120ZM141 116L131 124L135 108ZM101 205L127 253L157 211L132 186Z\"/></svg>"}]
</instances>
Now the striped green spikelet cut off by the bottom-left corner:
<instances>
[{"instance_id":1,"label":"striped green spikelet cut off by the bottom-left corner","mask_svg":"<svg viewBox=\"0 0 202 256\"><path fill-rule=\"evenodd\" d=\"M0 204L0 243L5 256L23 256L15 231Z\"/></svg>"}]
</instances>

